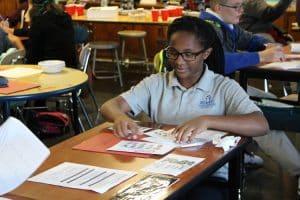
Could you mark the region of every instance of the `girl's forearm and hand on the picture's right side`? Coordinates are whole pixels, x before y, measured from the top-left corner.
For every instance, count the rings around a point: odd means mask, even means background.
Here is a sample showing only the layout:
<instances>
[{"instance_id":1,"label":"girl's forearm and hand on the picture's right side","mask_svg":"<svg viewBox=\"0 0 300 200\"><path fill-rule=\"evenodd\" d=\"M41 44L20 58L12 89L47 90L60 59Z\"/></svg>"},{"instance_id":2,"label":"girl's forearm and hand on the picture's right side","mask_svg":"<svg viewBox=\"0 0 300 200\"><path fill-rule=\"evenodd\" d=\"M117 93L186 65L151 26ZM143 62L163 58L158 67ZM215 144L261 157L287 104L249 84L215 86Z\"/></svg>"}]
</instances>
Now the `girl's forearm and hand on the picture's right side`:
<instances>
[{"instance_id":1,"label":"girl's forearm and hand on the picture's right side","mask_svg":"<svg viewBox=\"0 0 300 200\"><path fill-rule=\"evenodd\" d=\"M269 125L261 112L243 115L201 116L183 123L174 130L178 142L187 142L207 129L222 130L242 136L264 135Z\"/></svg>"}]
</instances>

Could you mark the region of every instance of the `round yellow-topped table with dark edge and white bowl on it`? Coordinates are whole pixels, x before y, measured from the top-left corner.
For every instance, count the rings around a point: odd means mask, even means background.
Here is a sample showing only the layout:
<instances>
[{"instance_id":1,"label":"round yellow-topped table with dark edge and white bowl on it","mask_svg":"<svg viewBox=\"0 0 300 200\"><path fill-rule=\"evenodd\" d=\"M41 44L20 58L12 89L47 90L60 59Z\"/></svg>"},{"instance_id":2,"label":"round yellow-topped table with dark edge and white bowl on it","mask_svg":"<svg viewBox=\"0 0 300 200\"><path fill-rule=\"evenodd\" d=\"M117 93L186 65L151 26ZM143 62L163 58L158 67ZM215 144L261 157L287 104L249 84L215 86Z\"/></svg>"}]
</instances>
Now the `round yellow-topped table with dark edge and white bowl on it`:
<instances>
[{"instance_id":1,"label":"round yellow-topped table with dark edge and white bowl on it","mask_svg":"<svg viewBox=\"0 0 300 200\"><path fill-rule=\"evenodd\" d=\"M10 67L30 67L39 68L37 65L1 65L1 69ZM18 78L17 80L38 84L40 87L16 92L8 95L0 94L0 103L3 104L3 117L7 119L10 116L10 103L15 101L28 101L36 99L46 99L48 97L60 96L62 94L72 93L75 131L79 132L77 123L77 94L76 92L83 88L88 81L87 74L80 70L65 68L60 73L48 74L40 73L32 76Z\"/></svg>"}]
</instances>

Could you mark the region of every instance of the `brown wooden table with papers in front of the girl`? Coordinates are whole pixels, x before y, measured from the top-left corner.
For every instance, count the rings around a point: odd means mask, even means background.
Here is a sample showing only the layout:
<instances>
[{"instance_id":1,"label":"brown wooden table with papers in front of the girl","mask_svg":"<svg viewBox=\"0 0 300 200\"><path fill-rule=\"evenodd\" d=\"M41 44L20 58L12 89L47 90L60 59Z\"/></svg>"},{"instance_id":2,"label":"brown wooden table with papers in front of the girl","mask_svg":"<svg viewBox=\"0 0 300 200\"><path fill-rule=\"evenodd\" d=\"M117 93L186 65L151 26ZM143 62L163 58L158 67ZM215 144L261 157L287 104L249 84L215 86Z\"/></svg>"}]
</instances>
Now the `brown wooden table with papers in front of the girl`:
<instances>
[{"instance_id":1,"label":"brown wooden table with papers in front of the girl","mask_svg":"<svg viewBox=\"0 0 300 200\"><path fill-rule=\"evenodd\" d=\"M97 126L85 133L77 135L69 140L53 146L50 157L36 171L35 174L52 168L59 163L68 161L81 164L136 171L138 174L126 182L116 186L104 194L98 194L92 191L77 190L71 188L58 187L53 185L35 183L26 181L16 190L9 193L13 197L22 197L29 199L109 199L120 189L135 183L141 179L146 172L140 171L141 168L152 163L160 157L137 158L122 155L104 154L72 150L72 147L85 141L92 136L99 134L103 129L111 124L105 123ZM202 163L193 167L189 171L179 176L180 181L172 185L162 199L176 199L178 196L187 192L188 189L207 178L215 170L229 161L229 184L231 186L230 199L238 199L238 189L240 187L241 166L240 158L244 146L249 142L248 138L242 138L239 145L224 155L221 148L216 148L212 144L206 144L202 147L193 147L175 150L176 154L190 155L206 158ZM16 198L18 199L18 198Z\"/></svg>"}]
</instances>

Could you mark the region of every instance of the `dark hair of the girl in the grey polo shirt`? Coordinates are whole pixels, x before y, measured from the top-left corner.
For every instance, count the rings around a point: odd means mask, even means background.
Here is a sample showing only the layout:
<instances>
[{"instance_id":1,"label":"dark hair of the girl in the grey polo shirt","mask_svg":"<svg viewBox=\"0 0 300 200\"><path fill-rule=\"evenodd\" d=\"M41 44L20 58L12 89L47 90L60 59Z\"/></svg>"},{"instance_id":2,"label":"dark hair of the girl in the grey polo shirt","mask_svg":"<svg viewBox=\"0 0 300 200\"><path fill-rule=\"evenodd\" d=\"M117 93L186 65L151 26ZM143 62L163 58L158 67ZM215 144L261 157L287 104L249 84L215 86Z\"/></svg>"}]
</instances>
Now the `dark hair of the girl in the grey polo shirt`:
<instances>
[{"instance_id":1,"label":"dark hair of the girl in the grey polo shirt","mask_svg":"<svg viewBox=\"0 0 300 200\"><path fill-rule=\"evenodd\" d=\"M177 18L168 28L168 41L179 31L190 32L196 36L204 49L212 48L211 54L204 61L215 73L224 74L224 51L214 28L208 22L191 16Z\"/></svg>"}]
</instances>

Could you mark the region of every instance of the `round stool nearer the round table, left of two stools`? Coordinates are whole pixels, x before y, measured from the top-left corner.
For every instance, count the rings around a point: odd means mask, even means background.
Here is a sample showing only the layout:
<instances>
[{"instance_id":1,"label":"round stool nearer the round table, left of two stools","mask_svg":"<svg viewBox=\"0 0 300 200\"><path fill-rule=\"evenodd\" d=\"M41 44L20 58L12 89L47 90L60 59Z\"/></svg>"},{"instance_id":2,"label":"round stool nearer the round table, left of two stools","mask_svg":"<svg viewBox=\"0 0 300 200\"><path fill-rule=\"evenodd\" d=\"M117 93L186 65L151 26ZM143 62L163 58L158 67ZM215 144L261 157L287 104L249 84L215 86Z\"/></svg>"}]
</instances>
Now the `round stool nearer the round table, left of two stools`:
<instances>
[{"instance_id":1,"label":"round stool nearer the round table, left of two stools","mask_svg":"<svg viewBox=\"0 0 300 200\"><path fill-rule=\"evenodd\" d=\"M118 57L118 47L119 43L117 42L111 42L111 41L95 41L95 42L89 42L89 47L94 51L93 53L93 65L92 65L92 70L93 70L93 75L96 79L109 79L109 78L119 78L120 85L123 87L123 80L122 80L122 72L120 68L120 63L119 63L119 57ZM106 71L106 70L96 70L96 61L99 62L105 62L107 60L97 58L97 50L111 50L112 53L112 62L116 64L117 71L114 70L113 75L103 75L110 73L111 71ZM97 75L97 73L102 73L102 75Z\"/></svg>"}]
</instances>

